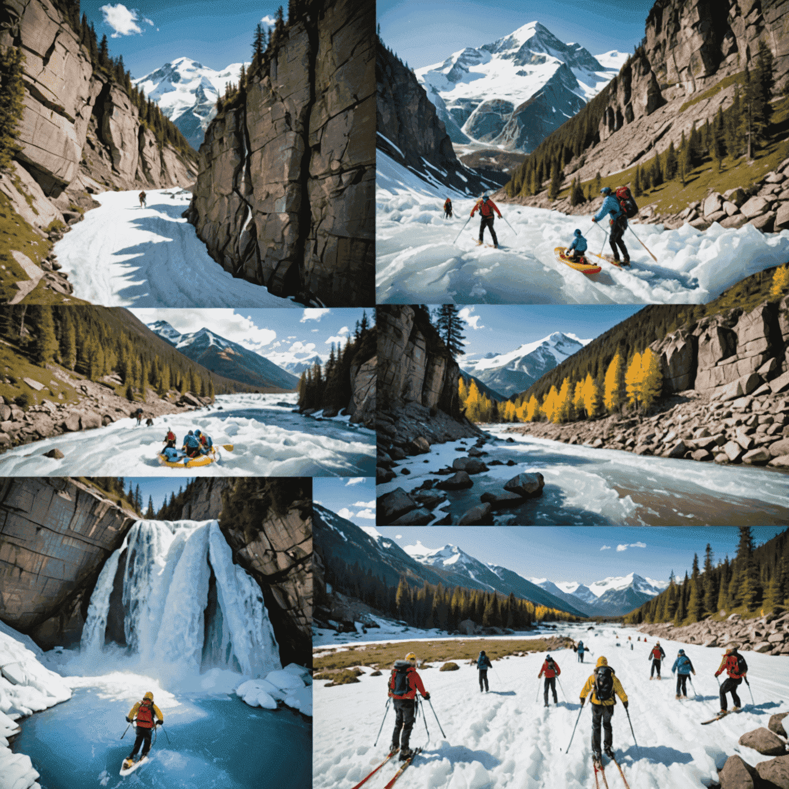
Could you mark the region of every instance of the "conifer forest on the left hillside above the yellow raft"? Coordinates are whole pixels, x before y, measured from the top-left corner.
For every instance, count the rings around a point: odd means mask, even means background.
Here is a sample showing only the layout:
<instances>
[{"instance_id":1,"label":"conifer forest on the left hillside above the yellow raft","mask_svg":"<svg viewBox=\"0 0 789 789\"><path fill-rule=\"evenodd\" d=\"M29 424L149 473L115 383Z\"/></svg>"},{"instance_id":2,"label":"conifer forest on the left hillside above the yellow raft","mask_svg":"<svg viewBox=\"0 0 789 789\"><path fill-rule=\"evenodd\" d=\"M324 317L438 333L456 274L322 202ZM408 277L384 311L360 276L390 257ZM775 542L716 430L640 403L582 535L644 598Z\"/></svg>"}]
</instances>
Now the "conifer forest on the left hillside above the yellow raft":
<instances>
[{"instance_id":1,"label":"conifer forest on the left hillside above the yellow raft","mask_svg":"<svg viewBox=\"0 0 789 789\"><path fill-rule=\"evenodd\" d=\"M144 398L148 389L159 397L178 391L208 398L252 391L215 376L175 349L152 347L113 317L101 307L14 305L0 310L0 337L41 367L62 365L92 381L116 374L129 401Z\"/></svg>"}]
</instances>

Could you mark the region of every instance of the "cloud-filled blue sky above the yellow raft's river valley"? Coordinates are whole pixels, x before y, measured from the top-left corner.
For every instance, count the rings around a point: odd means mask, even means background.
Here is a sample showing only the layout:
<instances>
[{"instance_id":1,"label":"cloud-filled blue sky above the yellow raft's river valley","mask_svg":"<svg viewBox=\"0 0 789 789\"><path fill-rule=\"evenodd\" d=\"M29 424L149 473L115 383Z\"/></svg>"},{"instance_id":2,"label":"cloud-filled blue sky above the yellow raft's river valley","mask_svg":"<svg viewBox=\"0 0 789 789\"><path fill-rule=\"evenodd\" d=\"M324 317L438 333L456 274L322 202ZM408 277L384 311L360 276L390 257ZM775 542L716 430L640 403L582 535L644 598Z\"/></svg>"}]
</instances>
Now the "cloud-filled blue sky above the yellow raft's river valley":
<instances>
[{"instance_id":1,"label":"cloud-filled blue sky above the yellow raft's river valley","mask_svg":"<svg viewBox=\"0 0 789 789\"><path fill-rule=\"evenodd\" d=\"M357 308L303 309L132 309L137 320L146 325L166 320L181 334L206 327L226 340L232 340L260 353L275 365L299 361L318 353L325 361L335 346L345 345L353 335L357 320L365 312ZM366 310L368 323L373 311Z\"/></svg>"}]
</instances>

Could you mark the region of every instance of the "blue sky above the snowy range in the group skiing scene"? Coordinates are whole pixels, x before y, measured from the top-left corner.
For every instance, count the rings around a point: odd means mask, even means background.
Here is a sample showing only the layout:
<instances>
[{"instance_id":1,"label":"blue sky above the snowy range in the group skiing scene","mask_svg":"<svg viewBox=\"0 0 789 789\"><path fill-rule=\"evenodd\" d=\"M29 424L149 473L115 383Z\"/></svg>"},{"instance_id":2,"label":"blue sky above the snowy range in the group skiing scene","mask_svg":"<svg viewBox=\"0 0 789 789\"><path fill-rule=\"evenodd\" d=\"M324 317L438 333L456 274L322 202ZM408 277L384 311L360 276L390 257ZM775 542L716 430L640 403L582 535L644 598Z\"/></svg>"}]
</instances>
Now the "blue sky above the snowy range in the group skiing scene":
<instances>
[{"instance_id":1,"label":"blue sky above the snowy range in the group skiing scene","mask_svg":"<svg viewBox=\"0 0 789 789\"><path fill-rule=\"evenodd\" d=\"M507 567L524 578L590 584L635 572L667 581L690 572L694 552L704 563L706 544L713 562L733 559L739 543L736 526L608 527L608 526L378 526L384 537L402 548L420 540L428 548L449 543L481 562ZM753 527L754 543L775 537L777 526ZM399 535L399 537L398 537ZM607 548L604 548L607 546ZM641 547L643 546L643 547Z\"/></svg>"}]
</instances>

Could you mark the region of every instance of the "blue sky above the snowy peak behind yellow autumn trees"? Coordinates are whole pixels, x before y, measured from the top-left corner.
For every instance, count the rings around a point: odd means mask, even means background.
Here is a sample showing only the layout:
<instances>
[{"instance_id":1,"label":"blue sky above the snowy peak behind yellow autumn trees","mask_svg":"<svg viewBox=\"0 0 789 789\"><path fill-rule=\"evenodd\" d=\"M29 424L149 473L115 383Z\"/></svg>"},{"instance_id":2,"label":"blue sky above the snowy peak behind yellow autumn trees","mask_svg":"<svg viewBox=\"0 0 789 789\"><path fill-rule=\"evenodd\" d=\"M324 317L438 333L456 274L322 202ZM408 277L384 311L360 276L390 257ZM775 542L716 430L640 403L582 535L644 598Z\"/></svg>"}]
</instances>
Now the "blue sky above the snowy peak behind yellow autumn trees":
<instances>
[{"instance_id":1,"label":"blue sky above the snowy peak behind yellow autumn trees","mask_svg":"<svg viewBox=\"0 0 789 789\"><path fill-rule=\"evenodd\" d=\"M466 356L507 353L555 331L581 339L595 338L635 315L644 305L477 305L463 307ZM463 359L460 357L460 361Z\"/></svg>"}]
</instances>

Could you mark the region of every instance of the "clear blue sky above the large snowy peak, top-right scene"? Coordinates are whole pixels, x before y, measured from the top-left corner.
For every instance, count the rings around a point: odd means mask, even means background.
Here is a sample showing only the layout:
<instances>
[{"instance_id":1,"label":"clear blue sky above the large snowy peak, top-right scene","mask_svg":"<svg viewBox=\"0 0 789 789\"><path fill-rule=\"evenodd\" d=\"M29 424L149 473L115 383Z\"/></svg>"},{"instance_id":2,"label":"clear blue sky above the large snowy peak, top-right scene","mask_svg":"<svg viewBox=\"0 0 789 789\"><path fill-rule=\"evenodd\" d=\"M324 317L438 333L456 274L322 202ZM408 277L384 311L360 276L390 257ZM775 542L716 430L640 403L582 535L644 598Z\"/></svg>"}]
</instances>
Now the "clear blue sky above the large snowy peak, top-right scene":
<instances>
[{"instance_id":1,"label":"clear blue sky above the large snowy peak, top-right scene","mask_svg":"<svg viewBox=\"0 0 789 789\"><path fill-rule=\"evenodd\" d=\"M464 47L492 43L533 21L591 54L632 52L644 36L652 6L653 0L378 0L376 17L383 43L419 69Z\"/></svg>"}]
</instances>

